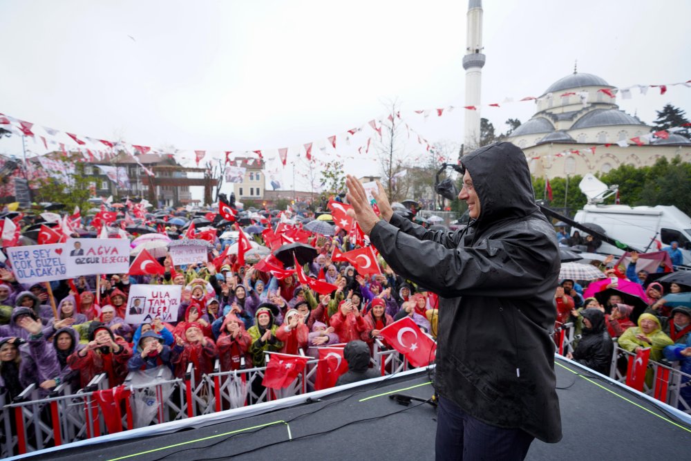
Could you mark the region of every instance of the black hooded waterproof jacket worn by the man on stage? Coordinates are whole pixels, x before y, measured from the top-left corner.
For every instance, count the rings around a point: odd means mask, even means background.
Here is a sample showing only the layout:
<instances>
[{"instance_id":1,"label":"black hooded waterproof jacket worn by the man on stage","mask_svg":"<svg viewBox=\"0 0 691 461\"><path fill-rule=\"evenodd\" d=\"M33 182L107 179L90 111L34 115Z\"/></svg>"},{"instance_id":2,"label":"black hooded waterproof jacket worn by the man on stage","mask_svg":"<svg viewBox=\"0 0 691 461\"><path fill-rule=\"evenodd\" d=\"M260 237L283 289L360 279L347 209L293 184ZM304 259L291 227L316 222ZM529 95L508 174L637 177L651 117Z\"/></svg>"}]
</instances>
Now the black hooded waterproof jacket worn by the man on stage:
<instances>
[{"instance_id":1,"label":"black hooded waterproof jacket worn by the man on stage","mask_svg":"<svg viewBox=\"0 0 691 461\"><path fill-rule=\"evenodd\" d=\"M370 241L395 272L439 294L438 393L487 424L558 442L556 236L518 147L491 144L461 162L481 205L468 228L429 231L394 214Z\"/></svg>"}]
</instances>

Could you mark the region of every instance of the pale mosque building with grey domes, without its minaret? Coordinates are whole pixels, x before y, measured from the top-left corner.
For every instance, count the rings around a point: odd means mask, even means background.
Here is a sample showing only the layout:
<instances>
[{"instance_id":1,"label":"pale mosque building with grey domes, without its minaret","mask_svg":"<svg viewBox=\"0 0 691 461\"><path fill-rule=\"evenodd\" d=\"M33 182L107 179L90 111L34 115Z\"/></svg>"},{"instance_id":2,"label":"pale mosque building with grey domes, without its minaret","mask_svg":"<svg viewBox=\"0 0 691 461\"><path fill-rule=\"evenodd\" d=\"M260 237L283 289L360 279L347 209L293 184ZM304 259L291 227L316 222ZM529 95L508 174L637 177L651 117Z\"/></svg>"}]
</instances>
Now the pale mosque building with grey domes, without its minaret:
<instances>
[{"instance_id":1,"label":"pale mosque building with grey domes, without its minaret","mask_svg":"<svg viewBox=\"0 0 691 461\"><path fill-rule=\"evenodd\" d=\"M676 155L691 162L690 140L674 133L668 139L647 140L652 126L621 111L615 92L614 86L596 75L567 75L538 97L535 115L507 140L523 149L531 173L538 177L606 173L621 164L643 167ZM631 138L639 138L643 145ZM629 145L616 144L621 141Z\"/></svg>"}]
</instances>

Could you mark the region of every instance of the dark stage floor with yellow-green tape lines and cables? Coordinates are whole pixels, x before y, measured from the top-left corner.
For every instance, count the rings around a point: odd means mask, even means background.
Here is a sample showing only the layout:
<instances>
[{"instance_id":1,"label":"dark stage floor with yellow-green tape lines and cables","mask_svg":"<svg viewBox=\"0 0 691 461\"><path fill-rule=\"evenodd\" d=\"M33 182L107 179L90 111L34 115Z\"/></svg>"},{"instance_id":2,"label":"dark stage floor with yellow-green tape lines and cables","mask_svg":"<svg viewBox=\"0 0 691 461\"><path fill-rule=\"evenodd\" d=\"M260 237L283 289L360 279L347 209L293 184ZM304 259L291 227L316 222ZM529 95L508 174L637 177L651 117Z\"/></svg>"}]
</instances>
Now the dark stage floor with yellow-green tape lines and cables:
<instances>
[{"instance_id":1,"label":"dark stage floor with yellow-green tape lines and cables","mask_svg":"<svg viewBox=\"0 0 691 461\"><path fill-rule=\"evenodd\" d=\"M528 460L690 459L688 425L638 395L573 364L557 360L555 368L564 438L558 444L536 440ZM435 408L415 401L401 406L388 393L428 399L432 386L426 373L394 377L377 385L329 395L321 402L200 429L75 447L30 459L433 459Z\"/></svg>"}]
</instances>

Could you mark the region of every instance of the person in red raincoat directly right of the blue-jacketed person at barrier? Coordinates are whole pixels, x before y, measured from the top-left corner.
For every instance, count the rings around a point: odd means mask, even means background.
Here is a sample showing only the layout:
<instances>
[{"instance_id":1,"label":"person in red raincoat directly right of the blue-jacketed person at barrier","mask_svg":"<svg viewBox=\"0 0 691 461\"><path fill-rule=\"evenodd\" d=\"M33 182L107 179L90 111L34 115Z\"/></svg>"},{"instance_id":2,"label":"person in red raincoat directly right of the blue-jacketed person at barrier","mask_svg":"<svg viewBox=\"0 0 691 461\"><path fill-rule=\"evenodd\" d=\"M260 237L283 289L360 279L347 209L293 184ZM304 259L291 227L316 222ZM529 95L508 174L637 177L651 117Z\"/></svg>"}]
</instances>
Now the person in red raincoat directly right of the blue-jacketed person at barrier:
<instances>
[{"instance_id":1,"label":"person in red raincoat directly right of the blue-jacketed person at barrier","mask_svg":"<svg viewBox=\"0 0 691 461\"><path fill-rule=\"evenodd\" d=\"M200 382L202 375L214 372L214 361L217 357L216 343L202 333L202 326L189 322L184 327L184 336L176 335L171 362L175 365L174 374L184 377L188 364L194 366L194 381Z\"/></svg>"}]
</instances>

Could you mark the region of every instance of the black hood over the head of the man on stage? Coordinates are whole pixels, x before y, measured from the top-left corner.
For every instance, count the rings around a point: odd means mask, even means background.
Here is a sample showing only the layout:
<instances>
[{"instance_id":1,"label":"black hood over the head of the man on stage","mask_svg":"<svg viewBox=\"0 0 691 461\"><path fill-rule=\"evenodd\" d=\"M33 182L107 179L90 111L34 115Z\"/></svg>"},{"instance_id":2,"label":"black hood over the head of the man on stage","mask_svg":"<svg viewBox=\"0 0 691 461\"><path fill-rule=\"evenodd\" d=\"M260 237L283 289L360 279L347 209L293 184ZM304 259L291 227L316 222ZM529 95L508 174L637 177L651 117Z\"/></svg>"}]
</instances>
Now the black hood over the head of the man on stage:
<instances>
[{"instance_id":1,"label":"black hood over the head of the man on stage","mask_svg":"<svg viewBox=\"0 0 691 461\"><path fill-rule=\"evenodd\" d=\"M481 147L461 158L480 198L479 228L538 212L525 154L511 142ZM544 216L543 216L544 218Z\"/></svg>"}]
</instances>

